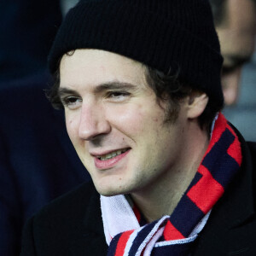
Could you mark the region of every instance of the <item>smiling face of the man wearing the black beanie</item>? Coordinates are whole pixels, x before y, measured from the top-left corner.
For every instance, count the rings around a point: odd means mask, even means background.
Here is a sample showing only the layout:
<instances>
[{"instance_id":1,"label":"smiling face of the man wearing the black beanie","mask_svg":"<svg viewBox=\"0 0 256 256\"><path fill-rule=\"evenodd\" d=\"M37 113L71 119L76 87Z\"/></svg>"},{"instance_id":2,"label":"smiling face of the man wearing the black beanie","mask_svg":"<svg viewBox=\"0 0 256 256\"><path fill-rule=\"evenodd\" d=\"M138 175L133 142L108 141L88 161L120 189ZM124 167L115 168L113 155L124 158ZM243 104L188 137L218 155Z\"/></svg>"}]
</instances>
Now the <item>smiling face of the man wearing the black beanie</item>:
<instances>
[{"instance_id":1,"label":"smiling face of the man wearing the black beanie","mask_svg":"<svg viewBox=\"0 0 256 256\"><path fill-rule=\"evenodd\" d=\"M164 180L181 159L186 114L165 122L144 67L121 55L77 49L61 59L67 132L102 195L139 191Z\"/></svg>"}]
</instances>

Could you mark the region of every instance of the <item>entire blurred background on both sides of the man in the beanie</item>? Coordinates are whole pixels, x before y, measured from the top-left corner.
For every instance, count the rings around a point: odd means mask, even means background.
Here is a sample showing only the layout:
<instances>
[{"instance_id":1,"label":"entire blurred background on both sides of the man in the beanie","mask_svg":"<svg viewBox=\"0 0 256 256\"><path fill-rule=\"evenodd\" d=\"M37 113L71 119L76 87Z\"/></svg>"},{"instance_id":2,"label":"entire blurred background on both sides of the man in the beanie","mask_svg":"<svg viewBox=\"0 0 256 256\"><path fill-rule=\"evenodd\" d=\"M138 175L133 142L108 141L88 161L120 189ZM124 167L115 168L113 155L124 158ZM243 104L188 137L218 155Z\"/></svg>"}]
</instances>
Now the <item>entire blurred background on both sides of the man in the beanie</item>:
<instances>
[{"instance_id":1,"label":"entire blurred background on both sides of the man in the beanie","mask_svg":"<svg viewBox=\"0 0 256 256\"><path fill-rule=\"evenodd\" d=\"M85 1L85 0L84 0ZM27 218L90 179L44 90L47 56L78 0L0 2L0 255L20 253ZM255 1L210 0L224 55L224 114L256 141Z\"/></svg>"}]
</instances>

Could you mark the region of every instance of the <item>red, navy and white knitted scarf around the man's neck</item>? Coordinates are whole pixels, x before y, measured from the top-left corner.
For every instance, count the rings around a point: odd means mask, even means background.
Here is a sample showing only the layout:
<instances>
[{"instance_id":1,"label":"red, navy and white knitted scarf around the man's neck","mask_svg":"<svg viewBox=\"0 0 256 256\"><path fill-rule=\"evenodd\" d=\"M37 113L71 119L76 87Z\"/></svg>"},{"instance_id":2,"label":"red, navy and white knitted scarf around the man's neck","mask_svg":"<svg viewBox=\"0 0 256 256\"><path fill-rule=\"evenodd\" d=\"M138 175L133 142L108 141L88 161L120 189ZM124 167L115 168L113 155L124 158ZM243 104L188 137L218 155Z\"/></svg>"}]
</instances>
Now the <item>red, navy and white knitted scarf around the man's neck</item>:
<instances>
[{"instance_id":1,"label":"red, navy and white knitted scarf around the man's neck","mask_svg":"<svg viewBox=\"0 0 256 256\"><path fill-rule=\"evenodd\" d=\"M125 195L101 196L108 256L188 255L212 207L240 166L240 143L219 113L201 165L171 216L145 224Z\"/></svg>"}]
</instances>

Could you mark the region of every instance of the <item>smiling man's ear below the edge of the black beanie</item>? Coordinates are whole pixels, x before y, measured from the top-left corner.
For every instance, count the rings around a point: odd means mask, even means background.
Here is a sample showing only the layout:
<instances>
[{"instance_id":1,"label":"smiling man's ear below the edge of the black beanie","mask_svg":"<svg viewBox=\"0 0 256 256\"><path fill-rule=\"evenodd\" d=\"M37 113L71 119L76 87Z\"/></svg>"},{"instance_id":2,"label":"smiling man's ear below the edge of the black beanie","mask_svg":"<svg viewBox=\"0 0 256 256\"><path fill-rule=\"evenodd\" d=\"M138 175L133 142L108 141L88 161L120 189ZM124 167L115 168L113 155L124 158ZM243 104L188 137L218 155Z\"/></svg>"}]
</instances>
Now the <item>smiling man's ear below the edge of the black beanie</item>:
<instances>
[{"instance_id":1,"label":"smiling man's ear below the edge of the black beanie","mask_svg":"<svg viewBox=\"0 0 256 256\"><path fill-rule=\"evenodd\" d=\"M193 91L189 96L188 101L188 118L195 119L198 118L201 113L204 112L207 107L209 98L206 93L202 91Z\"/></svg>"}]
</instances>

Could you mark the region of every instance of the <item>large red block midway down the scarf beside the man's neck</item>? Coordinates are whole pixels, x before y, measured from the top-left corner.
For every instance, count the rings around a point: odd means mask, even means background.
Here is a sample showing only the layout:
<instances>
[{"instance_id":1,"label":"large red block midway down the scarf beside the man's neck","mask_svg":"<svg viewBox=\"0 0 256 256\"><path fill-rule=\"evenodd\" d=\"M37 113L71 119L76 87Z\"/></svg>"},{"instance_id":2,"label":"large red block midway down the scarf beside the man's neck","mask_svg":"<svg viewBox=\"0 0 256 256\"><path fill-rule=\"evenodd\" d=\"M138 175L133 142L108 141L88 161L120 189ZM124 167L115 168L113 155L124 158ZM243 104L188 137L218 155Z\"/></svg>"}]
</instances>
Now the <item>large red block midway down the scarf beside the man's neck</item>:
<instances>
[{"instance_id":1,"label":"large red block midway down the scarf beside the man's neck","mask_svg":"<svg viewBox=\"0 0 256 256\"><path fill-rule=\"evenodd\" d=\"M224 188L212 177L211 172L205 166L200 166L198 172L201 173L202 177L195 186L189 189L187 195L206 214L212 209L218 198L223 195Z\"/></svg>"}]
</instances>

